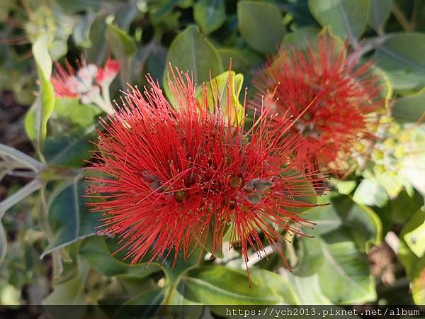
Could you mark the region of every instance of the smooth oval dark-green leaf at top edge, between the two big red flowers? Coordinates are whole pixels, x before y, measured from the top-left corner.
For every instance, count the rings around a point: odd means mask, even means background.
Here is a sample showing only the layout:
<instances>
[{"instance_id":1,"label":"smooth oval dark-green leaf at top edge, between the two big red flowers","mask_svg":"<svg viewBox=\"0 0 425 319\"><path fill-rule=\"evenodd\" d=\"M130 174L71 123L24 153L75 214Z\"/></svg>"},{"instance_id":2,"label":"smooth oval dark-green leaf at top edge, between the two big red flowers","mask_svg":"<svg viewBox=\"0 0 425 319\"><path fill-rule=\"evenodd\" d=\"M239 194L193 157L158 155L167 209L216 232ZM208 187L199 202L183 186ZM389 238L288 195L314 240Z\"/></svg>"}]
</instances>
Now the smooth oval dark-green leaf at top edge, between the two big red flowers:
<instances>
[{"instance_id":1,"label":"smooth oval dark-green leaf at top edge, between the two big red flowers","mask_svg":"<svg viewBox=\"0 0 425 319\"><path fill-rule=\"evenodd\" d=\"M237 4L237 26L242 38L259 52L276 51L285 35L279 9L269 3L240 1Z\"/></svg>"}]
</instances>

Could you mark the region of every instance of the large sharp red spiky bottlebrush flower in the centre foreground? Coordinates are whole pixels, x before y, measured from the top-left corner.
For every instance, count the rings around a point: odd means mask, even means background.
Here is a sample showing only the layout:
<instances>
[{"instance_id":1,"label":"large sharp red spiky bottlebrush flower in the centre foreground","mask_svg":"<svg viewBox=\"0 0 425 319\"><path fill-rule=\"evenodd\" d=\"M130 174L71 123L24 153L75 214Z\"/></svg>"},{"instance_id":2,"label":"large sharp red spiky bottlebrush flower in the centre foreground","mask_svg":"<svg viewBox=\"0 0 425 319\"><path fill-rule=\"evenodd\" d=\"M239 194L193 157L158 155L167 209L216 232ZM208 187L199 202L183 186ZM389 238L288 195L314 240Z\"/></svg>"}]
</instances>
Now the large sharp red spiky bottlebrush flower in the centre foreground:
<instances>
[{"instance_id":1,"label":"large sharp red spiky bottlebrush flower in the centre foreground","mask_svg":"<svg viewBox=\"0 0 425 319\"><path fill-rule=\"evenodd\" d=\"M100 199L89 203L103 213L98 234L120 237L132 264L149 252L152 262L174 251L176 262L179 251L188 257L205 247L208 233L214 254L228 226L245 261L249 247L263 249L259 233L280 252L281 231L300 233L293 223L305 223L293 208L314 206L304 199L316 196L290 159L300 136L282 128L269 134L267 112L248 133L229 125L222 112L208 111L205 86L197 99L188 74L169 82L179 111L149 83L101 120L100 152L89 168L101 174L88 177L87 191Z\"/></svg>"}]
</instances>

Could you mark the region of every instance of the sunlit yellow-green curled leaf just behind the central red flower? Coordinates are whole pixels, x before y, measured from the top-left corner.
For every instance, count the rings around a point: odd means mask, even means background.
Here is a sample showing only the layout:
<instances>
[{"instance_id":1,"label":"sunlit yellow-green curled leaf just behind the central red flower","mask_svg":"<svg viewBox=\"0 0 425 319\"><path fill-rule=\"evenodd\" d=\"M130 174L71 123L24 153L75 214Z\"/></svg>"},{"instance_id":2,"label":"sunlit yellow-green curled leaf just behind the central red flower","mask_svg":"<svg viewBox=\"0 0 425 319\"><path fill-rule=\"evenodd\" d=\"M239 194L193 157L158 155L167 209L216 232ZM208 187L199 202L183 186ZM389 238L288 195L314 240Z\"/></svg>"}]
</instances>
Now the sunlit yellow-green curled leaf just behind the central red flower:
<instances>
[{"instance_id":1,"label":"sunlit yellow-green curled leaf just behind the central red flower","mask_svg":"<svg viewBox=\"0 0 425 319\"><path fill-rule=\"evenodd\" d=\"M229 80L230 77L230 80ZM230 118L233 125L241 124L244 117L244 106L239 103L239 94L242 91L242 83L244 76L242 74L235 74L232 72L224 72L217 75L210 82L205 83L206 97L210 112L215 111L215 107L220 107L225 118ZM229 84L232 88L231 105L227 105L227 97L229 96ZM202 101L204 97L203 86L196 88L196 97L198 101Z\"/></svg>"}]
</instances>

